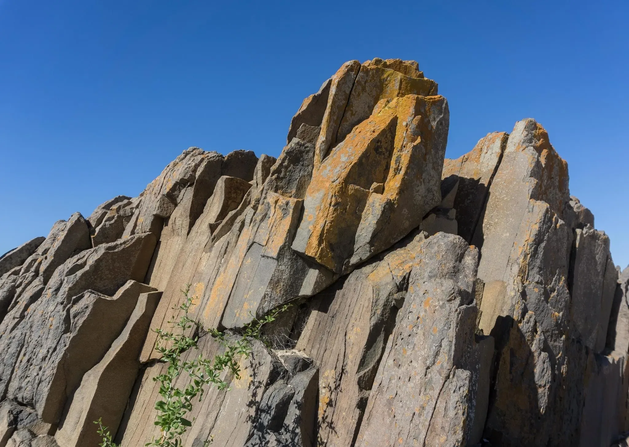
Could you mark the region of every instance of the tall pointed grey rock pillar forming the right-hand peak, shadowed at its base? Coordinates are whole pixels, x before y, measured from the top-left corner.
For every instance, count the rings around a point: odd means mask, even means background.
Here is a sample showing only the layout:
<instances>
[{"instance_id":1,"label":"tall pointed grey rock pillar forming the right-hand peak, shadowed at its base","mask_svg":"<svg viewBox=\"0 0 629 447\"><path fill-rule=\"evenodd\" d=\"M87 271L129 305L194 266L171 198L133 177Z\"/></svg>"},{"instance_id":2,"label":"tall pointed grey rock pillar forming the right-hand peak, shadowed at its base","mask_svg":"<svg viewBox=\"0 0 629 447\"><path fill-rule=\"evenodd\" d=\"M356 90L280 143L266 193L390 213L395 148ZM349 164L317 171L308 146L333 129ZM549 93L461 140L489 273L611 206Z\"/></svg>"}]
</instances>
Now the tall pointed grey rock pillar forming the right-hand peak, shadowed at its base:
<instances>
[{"instance_id":1,"label":"tall pointed grey rock pillar forming the right-hand peak, shadowed at its base","mask_svg":"<svg viewBox=\"0 0 629 447\"><path fill-rule=\"evenodd\" d=\"M532 119L516 123L472 238L479 329L498 351L484 431L494 444L577 443L587 355L570 330L568 201L567 166L547 133Z\"/></svg>"}]
</instances>

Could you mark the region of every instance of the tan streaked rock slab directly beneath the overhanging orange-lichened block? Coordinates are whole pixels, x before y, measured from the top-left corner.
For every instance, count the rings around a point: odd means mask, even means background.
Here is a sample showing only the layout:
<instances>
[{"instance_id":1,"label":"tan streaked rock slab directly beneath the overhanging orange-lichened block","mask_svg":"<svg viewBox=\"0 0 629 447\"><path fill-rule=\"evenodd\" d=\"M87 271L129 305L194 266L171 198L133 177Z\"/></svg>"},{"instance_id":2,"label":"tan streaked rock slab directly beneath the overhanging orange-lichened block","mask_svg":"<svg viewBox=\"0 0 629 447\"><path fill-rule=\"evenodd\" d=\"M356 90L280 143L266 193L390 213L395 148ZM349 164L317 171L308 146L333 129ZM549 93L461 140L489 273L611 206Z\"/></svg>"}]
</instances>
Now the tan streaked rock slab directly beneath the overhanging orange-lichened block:
<instances>
[{"instance_id":1,"label":"tan streaked rock slab directly beneath the overhanging orange-lichened block","mask_svg":"<svg viewBox=\"0 0 629 447\"><path fill-rule=\"evenodd\" d=\"M347 278L315 295L296 349L320 367L320 444L352 443L367 397L395 324L396 299L406 295L425 234L410 235L396 250L374 258Z\"/></svg>"}]
</instances>

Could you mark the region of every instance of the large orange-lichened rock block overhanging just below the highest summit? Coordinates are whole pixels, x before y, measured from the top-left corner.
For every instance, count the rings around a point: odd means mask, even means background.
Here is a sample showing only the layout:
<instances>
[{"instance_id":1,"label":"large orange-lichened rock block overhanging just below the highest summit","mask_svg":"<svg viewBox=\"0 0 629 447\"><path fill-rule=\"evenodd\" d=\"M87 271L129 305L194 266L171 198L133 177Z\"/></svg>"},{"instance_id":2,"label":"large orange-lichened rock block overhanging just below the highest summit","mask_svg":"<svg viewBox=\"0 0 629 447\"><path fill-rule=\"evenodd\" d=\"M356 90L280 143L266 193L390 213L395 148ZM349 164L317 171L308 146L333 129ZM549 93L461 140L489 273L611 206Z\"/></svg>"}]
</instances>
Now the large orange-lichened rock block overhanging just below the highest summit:
<instances>
[{"instance_id":1,"label":"large orange-lichened rock block overhanging just below the highest summit","mask_svg":"<svg viewBox=\"0 0 629 447\"><path fill-rule=\"evenodd\" d=\"M379 102L313 172L293 250L347 273L407 235L441 201L447 128L443 97Z\"/></svg>"}]
</instances>

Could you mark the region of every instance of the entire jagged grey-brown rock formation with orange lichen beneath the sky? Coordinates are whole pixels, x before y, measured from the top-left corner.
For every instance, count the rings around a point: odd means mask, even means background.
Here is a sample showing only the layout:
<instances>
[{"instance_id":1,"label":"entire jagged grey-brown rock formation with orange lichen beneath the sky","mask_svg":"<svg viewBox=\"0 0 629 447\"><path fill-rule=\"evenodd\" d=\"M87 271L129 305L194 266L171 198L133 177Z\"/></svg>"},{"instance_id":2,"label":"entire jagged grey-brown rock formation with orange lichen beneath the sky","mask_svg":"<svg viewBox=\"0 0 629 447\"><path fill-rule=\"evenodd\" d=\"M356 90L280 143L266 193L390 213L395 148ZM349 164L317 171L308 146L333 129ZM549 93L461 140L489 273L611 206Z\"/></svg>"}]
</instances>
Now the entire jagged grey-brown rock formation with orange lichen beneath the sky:
<instances>
[{"instance_id":1,"label":"entire jagged grey-brown rock formation with orange lichen beneath the sky","mask_svg":"<svg viewBox=\"0 0 629 447\"><path fill-rule=\"evenodd\" d=\"M186 285L182 361L291 306L182 446L626 445L629 268L539 123L444 160L448 125L416 62L347 62L277 159L189 148L0 257L0 447L159 438Z\"/></svg>"}]
</instances>

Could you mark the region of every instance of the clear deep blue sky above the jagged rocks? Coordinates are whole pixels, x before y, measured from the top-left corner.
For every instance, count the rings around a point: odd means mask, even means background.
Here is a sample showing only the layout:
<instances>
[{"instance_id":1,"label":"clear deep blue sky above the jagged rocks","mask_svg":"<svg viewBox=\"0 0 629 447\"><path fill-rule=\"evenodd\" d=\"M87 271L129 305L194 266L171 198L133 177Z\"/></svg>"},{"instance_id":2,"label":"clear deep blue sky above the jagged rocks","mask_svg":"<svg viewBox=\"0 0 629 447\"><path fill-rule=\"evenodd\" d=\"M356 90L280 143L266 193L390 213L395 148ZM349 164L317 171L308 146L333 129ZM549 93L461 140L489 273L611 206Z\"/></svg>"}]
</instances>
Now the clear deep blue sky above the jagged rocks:
<instances>
[{"instance_id":1,"label":"clear deep blue sky above the jagged rocks","mask_svg":"<svg viewBox=\"0 0 629 447\"><path fill-rule=\"evenodd\" d=\"M0 253L188 146L277 156L341 63L415 59L447 156L532 117L629 263L629 3L0 0Z\"/></svg>"}]
</instances>

